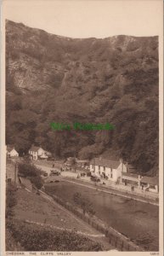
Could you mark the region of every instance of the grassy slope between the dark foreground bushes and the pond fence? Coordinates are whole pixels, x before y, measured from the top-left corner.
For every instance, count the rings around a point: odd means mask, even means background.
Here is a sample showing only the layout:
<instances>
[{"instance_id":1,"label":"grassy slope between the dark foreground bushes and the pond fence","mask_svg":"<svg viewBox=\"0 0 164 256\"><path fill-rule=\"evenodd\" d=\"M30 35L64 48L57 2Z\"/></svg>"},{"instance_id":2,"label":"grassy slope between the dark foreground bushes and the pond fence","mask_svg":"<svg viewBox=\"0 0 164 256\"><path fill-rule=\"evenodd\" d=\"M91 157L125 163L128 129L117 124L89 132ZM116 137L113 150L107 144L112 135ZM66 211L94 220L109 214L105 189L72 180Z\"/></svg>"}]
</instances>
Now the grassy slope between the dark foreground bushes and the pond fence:
<instances>
[{"instance_id":1,"label":"grassy slope between the dark foreground bushes and the pond fence","mask_svg":"<svg viewBox=\"0 0 164 256\"><path fill-rule=\"evenodd\" d=\"M91 240L102 243L105 250L111 248L105 238L92 237L92 235L99 235L99 231L83 223L82 220L74 217L74 215L58 204L54 203L54 205L52 205L52 203L42 198L42 196L29 193L24 189L19 189L16 192L16 197L18 201L17 205L14 207L15 218L50 224L54 226L54 229L56 227L57 230L81 231L83 234L88 234L87 237Z\"/></svg>"}]
</instances>

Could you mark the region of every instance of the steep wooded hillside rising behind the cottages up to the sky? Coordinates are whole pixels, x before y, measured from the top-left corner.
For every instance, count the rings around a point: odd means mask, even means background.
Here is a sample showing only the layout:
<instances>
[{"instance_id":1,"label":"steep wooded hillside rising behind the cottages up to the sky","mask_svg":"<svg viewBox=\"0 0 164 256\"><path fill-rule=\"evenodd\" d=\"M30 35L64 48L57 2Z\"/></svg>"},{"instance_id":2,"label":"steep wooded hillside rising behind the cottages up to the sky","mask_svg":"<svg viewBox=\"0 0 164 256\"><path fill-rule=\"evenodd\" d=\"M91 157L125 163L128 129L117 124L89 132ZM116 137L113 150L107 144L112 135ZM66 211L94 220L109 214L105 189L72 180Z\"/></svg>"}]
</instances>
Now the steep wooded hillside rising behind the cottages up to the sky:
<instances>
[{"instance_id":1,"label":"steep wooded hillside rising behind the cottages up to the sky","mask_svg":"<svg viewBox=\"0 0 164 256\"><path fill-rule=\"evenodd\" d=\"M63 157L123 156L158 172L158 38L72 39L6 22L7 143ZM114 131L52 131L51 122Z\"/></svg>"}]
</instances>

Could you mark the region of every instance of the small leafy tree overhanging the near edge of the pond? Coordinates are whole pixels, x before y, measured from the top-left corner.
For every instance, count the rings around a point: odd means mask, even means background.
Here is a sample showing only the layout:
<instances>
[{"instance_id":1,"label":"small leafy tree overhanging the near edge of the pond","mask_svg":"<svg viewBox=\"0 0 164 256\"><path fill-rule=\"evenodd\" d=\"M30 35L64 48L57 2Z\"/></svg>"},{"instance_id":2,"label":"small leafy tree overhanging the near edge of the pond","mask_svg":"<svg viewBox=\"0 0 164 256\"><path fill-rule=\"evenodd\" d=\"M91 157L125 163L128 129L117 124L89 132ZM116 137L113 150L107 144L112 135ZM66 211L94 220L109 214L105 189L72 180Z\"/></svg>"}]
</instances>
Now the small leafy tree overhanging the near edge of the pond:
<instances>
[{"instance_id":1,"label":"small leafy tree overhanging the near edge of the pond","mask_svg":"<svg viewBox=\"0 0 164 256\"><path fill-rule=\"evenodd\" d=\"M86 212L91 215L95 214L92 202L90 202L88 198L82 196L81 193L76 192L76 194L73 195L73 201L82 209L83 214Z\"/></svg>"}]
</instances>

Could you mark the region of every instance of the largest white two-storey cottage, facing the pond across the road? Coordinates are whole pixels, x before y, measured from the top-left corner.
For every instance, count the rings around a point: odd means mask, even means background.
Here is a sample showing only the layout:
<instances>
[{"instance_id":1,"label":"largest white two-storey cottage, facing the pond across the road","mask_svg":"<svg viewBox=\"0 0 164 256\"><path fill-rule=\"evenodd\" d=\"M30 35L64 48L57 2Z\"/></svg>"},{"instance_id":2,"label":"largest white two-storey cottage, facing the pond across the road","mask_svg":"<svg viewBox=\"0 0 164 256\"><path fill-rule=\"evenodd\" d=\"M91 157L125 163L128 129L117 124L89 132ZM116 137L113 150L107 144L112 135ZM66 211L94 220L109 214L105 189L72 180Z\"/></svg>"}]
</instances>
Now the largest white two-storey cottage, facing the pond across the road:
<instances>
[{"instance_id":1,"label":"largest white two-storey cottage, facing the pond across the road","mask_svg":"<svg viewBox=\"0 0 164 256\"><path fill-rule=\"evenodd\" d=\"M122 172L127 172L127 166L122 160L94 158L90 162L90 172L92 175L95 174L116 182L121 177Z\"/></svg>"}]
</instances>

